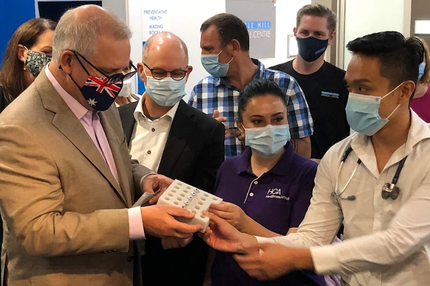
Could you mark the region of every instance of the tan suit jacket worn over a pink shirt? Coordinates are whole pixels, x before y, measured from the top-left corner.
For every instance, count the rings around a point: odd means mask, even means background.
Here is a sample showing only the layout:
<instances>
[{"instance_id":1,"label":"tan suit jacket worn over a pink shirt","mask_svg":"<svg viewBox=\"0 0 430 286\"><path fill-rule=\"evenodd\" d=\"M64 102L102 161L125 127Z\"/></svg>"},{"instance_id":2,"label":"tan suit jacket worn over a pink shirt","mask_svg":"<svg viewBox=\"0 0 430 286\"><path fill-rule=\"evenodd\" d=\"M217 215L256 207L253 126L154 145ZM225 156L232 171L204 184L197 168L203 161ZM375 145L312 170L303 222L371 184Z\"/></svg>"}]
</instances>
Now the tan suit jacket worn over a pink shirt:
<instances>
[{"instance_id":1,"label":"tan suit jacket worn over a pink shirt","mask_svg":"<svg viewBox=\"0 0 430 286\"><path fill-rule=\"evenodd\" d=\"M131 162L114 104L99 115L119 185L44 72L1 113L7 285L132 285L127 208L150 171Z\"/></svg>"}]
</instances>

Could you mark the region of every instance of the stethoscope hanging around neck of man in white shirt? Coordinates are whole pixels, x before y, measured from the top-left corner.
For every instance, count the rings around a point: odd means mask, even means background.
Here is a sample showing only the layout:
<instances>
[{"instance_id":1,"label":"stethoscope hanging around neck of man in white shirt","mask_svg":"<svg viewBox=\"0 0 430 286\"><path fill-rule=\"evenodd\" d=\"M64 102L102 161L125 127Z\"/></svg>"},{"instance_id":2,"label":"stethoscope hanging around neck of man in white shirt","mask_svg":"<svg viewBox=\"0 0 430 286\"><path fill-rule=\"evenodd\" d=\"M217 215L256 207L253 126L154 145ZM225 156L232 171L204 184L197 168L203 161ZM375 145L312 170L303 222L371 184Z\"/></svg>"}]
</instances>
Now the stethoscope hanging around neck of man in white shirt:
<instances>
[{"instance_id":1,"label":"stethoscope hanging around neck of man in white shirt","mask_svg":"<svg viewBox=\"0 0 430 286\"><path fill-rule=\"evenodd\" d=\"M337 193L339 175L340 175L340 172L342 170L342 166L345 163L346 158L348 158L351 151L352 151L352 147L349 147L345 151L345 154L343 154L342 161L340 162L339 169L337 170L336 182L334 184L334 191L332 191L332 193L331 193L331 195L334 197L338 197L341 199L347 199L347 200L355 200L355 198L356 198L355 195L348 195L348 196L341 196L341 195L346 190L346 188L348 187L349 183L351 182L352 178L354 177L355 172L358 169L358 166L360 166L360 164L361 164L361 160L358 159L357 165L355 165L354 171L352 171L352 174L349 177L348 181L346 182L345 186L342 188L342 191L340 193ZM406 156L405 158L400 160L399 166L397 167L396 174L394 175L391 183L385 183L384 187L382 187L381 195L382 195L383 199L388 199L389 197L392 199L396 199L399 196L400 189L399 189L399 187L396 186L396 184L397 184L397 181L399 181L400 172L402 172L402 168L403 168L403 165L405 164L406 158L408 158L408 156Z\"/></svg>"}]
</instances>

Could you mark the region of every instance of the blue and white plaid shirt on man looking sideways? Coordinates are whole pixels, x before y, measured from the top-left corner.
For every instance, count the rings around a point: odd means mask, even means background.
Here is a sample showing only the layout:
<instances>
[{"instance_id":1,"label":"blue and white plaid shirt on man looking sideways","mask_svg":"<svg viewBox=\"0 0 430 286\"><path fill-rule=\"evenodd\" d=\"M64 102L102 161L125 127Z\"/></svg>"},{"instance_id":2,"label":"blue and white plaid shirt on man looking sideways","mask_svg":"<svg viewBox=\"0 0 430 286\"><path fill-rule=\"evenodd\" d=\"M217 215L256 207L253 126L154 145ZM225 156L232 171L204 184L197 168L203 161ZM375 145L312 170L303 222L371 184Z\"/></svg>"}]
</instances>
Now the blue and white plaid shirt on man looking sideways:
<instances>
[{"instance_id":1,"label":"blue and white plaid shirt on man looking sideways","mask_svg":"<svg viewBox=\"0 0 430 286\"><path fill-rule=\"evenodd\" d=\"M287 111L291 138L301 138L312 135L313 121L308 104L294 78L289 75L264 68L258 60L252 59L257 65L254 79L268 79L278 84L282 92L289 96ZM188 104L212 116L214 110L219 116L227 117L224 122L228 127L234 127L237 118L237 96L240 90L230 84L227 78L209 76L201 80L193 89ZM241 142L230 136L225 140L225 157L232 157L242 153Z\"/></svg>"}]
</instances>

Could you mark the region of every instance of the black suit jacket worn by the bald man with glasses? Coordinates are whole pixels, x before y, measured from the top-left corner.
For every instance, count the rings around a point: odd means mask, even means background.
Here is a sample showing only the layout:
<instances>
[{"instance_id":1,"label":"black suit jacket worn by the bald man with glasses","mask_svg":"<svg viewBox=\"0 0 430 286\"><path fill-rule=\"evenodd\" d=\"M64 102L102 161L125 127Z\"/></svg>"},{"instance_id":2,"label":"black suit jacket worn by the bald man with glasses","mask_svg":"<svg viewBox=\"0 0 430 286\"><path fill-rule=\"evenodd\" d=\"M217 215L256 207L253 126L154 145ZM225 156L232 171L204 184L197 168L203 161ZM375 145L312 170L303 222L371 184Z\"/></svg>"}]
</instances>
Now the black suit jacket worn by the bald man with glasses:
<instances>
[{"instance_id":1,"label":"black suit jacket worn by the bald man with glasses","mask_svg":"<svg viewBox=\"0 0 430 286\"><path fill-rule=\"evenodd\" d=\"M130 144L138 102L119 107L124 133ZM214 193L215 177L224 161L224 125L181 100L170 128L158 174L181 180ZM145 162L140 162L145 165ZM161 240L147 235L142 257L145 286L201 286L208 247L194 237L181 249L163 250ZM166 275L166 269L169 275Z\"/></svg>"}]
</instances>

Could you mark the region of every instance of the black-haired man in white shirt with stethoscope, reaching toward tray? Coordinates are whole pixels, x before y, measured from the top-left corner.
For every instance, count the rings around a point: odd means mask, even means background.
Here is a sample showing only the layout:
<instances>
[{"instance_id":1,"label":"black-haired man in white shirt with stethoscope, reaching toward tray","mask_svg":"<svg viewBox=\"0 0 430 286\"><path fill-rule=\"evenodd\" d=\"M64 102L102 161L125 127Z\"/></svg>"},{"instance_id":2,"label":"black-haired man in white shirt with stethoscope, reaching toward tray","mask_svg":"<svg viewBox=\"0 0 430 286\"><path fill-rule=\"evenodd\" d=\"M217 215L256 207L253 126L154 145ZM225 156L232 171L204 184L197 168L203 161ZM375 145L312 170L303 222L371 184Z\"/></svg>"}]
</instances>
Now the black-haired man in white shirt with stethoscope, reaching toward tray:
<instances>
[{"instance_id":1,"label":"black-haired man in white shirt with stethoscope, reaching toward tray","mask_svg":"<svg viewBox=\"0 0 430 286\"><path fill-rule=\"evenodd\" d=\"M350 286L427 285L430 129L409 108L423 45L415 37L381 32L347 48L353 57L345 76L346 113L357 132L321 160L297 233L253 237L208 214L212 222L204 238L218 250L242 254L235 256L239 265L261 280L313 269L338 273ZM342 222L345 240L331 245Z\"/></svg>"}]
</instances>

